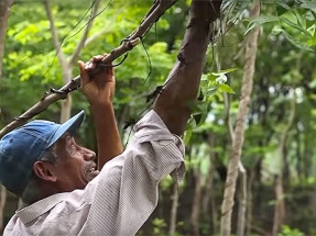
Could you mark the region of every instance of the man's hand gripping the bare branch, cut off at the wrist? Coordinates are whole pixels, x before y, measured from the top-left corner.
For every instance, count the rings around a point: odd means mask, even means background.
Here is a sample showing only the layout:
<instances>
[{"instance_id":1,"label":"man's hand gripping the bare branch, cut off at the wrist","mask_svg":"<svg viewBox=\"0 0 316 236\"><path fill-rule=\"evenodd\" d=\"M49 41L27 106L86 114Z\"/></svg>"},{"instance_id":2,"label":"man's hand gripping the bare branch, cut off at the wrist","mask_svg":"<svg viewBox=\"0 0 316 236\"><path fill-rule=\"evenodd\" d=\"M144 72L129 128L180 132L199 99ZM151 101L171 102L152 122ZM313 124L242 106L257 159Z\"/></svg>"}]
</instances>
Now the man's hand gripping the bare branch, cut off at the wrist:
<instances>
[{"instance_id":1,"label":"man's hand gripping the bare branch, cut off at the wrist","mask_svg":"<svg viewBox=\"0 0 316 236\"><path fill-rule=\"evenodd\" d=\"M105 66L103 70L90 76L106 54L94 56L88 63L78 61L81 78L81 91L91 105L112 102L116 88L116 78L112 64Z\"/></svg>"}]
</instances>

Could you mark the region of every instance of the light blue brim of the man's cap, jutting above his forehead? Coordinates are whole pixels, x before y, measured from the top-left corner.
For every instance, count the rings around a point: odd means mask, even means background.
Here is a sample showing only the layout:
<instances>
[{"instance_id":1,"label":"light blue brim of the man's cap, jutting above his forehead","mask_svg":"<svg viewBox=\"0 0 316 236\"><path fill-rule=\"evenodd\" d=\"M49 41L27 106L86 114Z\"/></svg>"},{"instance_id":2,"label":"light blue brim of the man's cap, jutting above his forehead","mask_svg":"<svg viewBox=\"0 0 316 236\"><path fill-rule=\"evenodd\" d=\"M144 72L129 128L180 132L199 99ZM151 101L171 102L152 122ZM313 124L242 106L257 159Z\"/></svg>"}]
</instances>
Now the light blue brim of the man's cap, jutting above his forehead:
<instances>
[{"instance_id":1,"label":"light blue brim of the man's cap, jutting above his forehead","mask_svg":"<svg viewBox=\"0 0 316 236\"><path fill-rule=\"evenodd\" d=\"M51 137L47 148L51 147L53 144L55 144L56 141L59 139L59 137L62 137L65 133L69 133L70 135L74 135L77 128L81 125L84 119L85 119L85 111L83 110L78 114L74 115L68 121L66 121L64 124L61 124L61 126L56 130L54 135Z\"/></svg>"}]
</instances>

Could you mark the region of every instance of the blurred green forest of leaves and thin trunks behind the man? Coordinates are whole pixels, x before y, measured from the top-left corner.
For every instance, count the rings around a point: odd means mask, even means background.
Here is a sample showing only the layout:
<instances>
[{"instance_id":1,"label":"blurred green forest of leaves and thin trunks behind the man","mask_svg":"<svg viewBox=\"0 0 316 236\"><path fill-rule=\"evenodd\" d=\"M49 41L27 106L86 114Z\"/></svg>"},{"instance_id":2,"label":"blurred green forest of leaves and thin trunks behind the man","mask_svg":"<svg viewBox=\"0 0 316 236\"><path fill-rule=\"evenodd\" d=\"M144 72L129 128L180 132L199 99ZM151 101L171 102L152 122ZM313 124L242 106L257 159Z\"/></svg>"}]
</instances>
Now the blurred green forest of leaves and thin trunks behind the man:
<instances>
[{"instance_id":1,"label":"blurred green forest of leaves and thin trunks behind the man","mask_svg":"<svg viewBox=\"0 0 316 236\"><path fill-rule=\"evenodd\" d=\"M124 144L133 121L149 106L146 95L163 83L176 60L189 2L179 0L167 10L116 68L115 109ZM77 76L78 59L88 60L116 48L140 24L152 3L14 0L0 80L0 127L36 103L45 91L58 89ZM220 234L232 153L231 130L247 69L246 42L254 30L259 33L258 52L231 234L316 235L316 2L260 3L260 16L250 19L255 2L222 2L222 16L207 53L203 98L184 136L185 180L179 186L170 178L162 181L159 206L138 235ZM52 23L55 31L50 30ZM65 121L83 109L87 117L78 139L96 150L88 103L80 92L74 91L36 119ZM18 209L19 200L3 188L1 196L3 227ZM244 225L242 233L240 224Z\"/></svg>"}]
</instances>

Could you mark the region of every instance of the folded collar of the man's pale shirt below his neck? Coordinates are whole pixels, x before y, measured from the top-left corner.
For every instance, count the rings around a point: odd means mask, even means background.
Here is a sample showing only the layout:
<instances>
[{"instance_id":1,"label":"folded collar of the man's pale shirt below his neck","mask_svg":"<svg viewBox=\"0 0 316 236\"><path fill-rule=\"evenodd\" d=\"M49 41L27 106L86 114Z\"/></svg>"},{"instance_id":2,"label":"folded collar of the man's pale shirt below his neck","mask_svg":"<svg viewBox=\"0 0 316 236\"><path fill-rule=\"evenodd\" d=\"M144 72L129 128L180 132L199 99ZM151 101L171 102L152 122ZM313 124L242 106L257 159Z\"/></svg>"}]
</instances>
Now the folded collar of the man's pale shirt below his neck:
<instances>
[{"instance_id":1,"label":"folded collar of the man's pale shirt below his neck","mask_svg":"<svg viewBox=\"0 0 316 236\"><path fill-rule=\"evenodd\" d=\"M44 213L48 212L59 202L66 200L70 192L57 193L42 199L32 205L18 210L15 213L21 218L23 224L28 224Z\"/></svg>"}]
</instances>

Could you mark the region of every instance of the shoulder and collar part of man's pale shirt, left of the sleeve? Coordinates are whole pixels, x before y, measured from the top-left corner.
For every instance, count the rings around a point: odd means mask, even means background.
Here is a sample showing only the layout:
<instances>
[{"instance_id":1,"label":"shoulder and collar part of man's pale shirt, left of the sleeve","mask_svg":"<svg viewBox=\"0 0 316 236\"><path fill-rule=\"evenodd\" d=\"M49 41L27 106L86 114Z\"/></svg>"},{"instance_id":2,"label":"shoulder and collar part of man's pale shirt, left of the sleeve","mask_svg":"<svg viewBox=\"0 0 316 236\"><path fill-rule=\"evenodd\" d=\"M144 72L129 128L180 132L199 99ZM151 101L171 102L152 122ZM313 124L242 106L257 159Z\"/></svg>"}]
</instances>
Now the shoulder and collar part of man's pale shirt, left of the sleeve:
<instances>
[{"instance_id":1,"label":"shoulder and collar part of man's pale shirt, left of the sleeve","mask_svg":"<svg viewBox=\"0 0 316 236\"><path fill-rule=\"evenodd\" d=\"M90 207L84 193L85 190L75 190L54 194L18 210L3 235L37 235L54 228L59 233L76 232L84 226Z\"/></svg>"}]
</instances>

